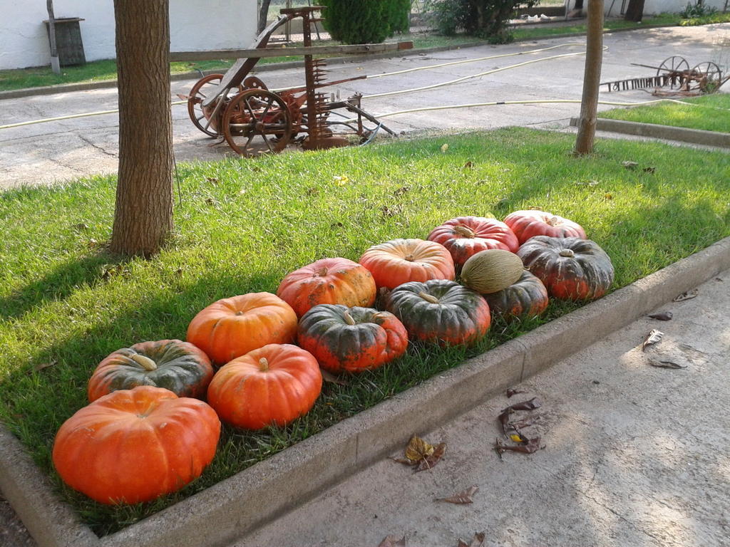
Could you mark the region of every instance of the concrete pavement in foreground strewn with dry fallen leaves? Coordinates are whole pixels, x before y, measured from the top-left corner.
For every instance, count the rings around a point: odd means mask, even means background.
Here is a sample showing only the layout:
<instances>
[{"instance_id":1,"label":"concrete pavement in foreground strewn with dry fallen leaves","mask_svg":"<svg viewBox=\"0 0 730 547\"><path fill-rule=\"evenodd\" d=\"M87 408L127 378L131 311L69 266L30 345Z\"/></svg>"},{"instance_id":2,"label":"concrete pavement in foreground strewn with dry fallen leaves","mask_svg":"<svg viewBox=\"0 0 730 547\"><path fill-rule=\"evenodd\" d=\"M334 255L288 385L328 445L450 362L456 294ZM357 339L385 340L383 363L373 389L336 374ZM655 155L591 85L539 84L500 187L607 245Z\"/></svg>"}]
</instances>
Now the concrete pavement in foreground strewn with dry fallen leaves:
<instances>
[{"instance_id":1,"label":"concrete pavement in foreground strewn with dry fallen leaves","mask_svg":"<svg viewBox=\"0 0 730 547\"><path fill-rule=\"evenodd\" d=\"M383 459L231 547L730 545L730 271L434 431L442 461ZM652 329L664 338L642 352ZM655 368L653 360L683 369ZM537 397L534 454L493 450L502 408ZM408 439L404 438L404 446ZM402 454L393 454L401 457ZM476 485L470 505L435 502Z\"/></svg>"}]
</instances>

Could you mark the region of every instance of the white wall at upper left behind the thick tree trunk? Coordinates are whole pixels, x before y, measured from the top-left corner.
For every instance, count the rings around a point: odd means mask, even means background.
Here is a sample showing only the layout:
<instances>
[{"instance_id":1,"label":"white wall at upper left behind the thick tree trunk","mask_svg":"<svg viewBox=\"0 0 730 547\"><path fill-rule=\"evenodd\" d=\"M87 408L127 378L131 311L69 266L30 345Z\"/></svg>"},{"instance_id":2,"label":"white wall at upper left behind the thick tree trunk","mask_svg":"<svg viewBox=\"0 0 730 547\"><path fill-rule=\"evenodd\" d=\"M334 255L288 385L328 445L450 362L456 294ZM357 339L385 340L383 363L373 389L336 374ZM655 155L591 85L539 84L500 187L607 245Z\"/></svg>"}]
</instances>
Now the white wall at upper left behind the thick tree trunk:
<instances>
[{"instance_id":1,"label":"white wall at upper left behind the thick tree trunk","mask_svg":"<svg viewBox=\"0 0 730 547\"><path fill-rule=\"evenodd\" d=\"M153 0L150 0L153 1ZM115 57L112 0L53 0L56 18L77 17L87 61ZM0 69L50 64L45 0L0 0ZM170 0L172 51L248 47L256 0Z\"/></svg>"}]
</instances>

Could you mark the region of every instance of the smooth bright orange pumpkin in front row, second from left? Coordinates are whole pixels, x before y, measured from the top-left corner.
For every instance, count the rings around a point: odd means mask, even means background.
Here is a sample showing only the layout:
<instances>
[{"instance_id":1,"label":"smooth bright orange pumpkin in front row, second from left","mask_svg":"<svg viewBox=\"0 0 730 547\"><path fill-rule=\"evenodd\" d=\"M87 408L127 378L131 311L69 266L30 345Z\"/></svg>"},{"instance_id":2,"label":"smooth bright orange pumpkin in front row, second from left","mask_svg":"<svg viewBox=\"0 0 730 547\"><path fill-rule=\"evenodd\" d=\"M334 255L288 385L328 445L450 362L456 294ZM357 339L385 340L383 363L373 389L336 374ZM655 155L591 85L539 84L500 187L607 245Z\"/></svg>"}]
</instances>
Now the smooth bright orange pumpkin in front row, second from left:
<instances>
[{"instance_id":1,"label":"smooth bright orange pumpkin in front row, second from left","mask_svg":"<svg viewBox=\"0 0 730 547\"><path fill-rule=\"evenodd\" d=\"M208 386L208 403L224 422L258 430L307 414L322 390L310 352L269 344L223 365Z\"/></svg>"}]
</instances>

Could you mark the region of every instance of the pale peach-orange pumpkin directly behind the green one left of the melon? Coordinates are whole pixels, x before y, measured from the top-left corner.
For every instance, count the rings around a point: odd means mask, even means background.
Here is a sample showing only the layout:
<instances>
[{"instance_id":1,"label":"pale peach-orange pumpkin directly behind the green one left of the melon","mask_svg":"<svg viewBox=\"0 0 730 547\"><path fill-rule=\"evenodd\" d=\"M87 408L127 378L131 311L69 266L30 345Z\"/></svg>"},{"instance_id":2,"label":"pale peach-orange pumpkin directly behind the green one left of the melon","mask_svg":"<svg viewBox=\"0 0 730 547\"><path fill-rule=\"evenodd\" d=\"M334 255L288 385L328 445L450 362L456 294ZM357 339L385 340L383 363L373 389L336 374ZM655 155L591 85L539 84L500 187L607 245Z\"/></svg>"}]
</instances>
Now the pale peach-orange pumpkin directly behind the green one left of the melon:
<instances>
[{"instance_id":1,"label":"pale peach-orange pumpkin directly behind the green one left of the melon","mask_svg":"<svg viewBox=\"0 0 730 547\"><path fill-rule=\"evenodd\" d=\"M394 289L401 284L456 276L454 262L442 244L423 239L393 239L374 245L360 257L378 287Z\"/></svg>"}]
</instances>

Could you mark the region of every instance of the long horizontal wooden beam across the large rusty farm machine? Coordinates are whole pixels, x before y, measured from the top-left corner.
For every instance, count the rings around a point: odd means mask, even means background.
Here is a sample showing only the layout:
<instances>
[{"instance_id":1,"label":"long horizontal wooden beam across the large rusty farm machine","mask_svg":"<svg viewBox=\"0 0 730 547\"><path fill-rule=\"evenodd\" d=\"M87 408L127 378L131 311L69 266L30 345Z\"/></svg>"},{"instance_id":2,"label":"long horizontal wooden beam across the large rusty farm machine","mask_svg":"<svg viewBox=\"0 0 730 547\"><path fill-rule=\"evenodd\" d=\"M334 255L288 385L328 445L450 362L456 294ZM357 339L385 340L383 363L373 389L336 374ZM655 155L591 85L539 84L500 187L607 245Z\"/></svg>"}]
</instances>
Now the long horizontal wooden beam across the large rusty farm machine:
<instances>
[{"instance_id":1,"label":"long horizontal wooden beam across the large rusty farm machine","mask_svg":"<svg viewBox=\"0 0 730 547\"><path fill-rule=\"evenodd\" d=\"M413 42L396 44L356 44L312 47L266 47L254 50L210 50L170 52L170 61L210 61L212 59L259 59L264 57L292 57L295 55L357 55L410 50Z\"/></svg>"}]
</instances>

